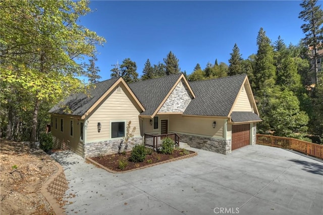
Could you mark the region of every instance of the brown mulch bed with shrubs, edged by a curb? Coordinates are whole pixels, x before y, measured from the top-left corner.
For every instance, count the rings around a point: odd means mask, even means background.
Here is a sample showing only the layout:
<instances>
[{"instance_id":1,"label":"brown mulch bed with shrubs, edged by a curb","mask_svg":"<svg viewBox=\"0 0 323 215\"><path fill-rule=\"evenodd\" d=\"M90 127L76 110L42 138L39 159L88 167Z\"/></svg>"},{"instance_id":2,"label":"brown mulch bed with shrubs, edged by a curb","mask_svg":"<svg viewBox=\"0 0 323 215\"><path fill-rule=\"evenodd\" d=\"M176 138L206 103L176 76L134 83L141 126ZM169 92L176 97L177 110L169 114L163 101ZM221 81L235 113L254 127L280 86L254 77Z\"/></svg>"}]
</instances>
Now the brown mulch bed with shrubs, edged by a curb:
<instances>
[{"instance_id":1,"label":"brown mulch bed with shrubs, edged by a curb","mask_svg":"<svg viewBox=\"0 0 323 215\"><path fill-rule=\"evenodd\" d=\"M110 154L110 155L104 155L104 156L98 156L98 157L91 157L91 159L109 170L116 171L116 172L124 172L124 171L129 171L129 170L145 167L152 164L157 164L160 162L165 162L166 160L182 157L192 153L195 153L195 152L182 149L182 148L175 149L173 154L162 154L162 153L153 151L151 152L151 154L147 154L145 160L141 163L131 162L131 160L129 159L131 151L128 151L127 154L116 153L116 154ZM120 159L128 160L128 165L123 170L119 168Z\"/></svg>"}]
</instances>

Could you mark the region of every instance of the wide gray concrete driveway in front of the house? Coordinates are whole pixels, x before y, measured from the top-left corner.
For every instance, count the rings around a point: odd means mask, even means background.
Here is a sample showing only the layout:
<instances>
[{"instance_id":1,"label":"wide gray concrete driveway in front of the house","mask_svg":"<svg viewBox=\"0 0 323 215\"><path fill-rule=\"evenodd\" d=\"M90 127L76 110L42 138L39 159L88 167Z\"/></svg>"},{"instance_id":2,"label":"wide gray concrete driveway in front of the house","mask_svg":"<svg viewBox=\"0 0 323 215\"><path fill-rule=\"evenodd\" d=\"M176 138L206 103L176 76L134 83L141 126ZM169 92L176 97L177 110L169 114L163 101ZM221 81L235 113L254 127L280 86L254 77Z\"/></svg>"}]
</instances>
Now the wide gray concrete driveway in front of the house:
<instances>
[{"instance_id":1,"label":"wide gray concrete driveway in front of the house","mask_svg":"<svg viewBox=\"0 0 323 215\"><path fill-rule=\"evenodd\" d=\"M69 181L68 214L323 214L323 163L270 146L195 157L124 174L53 154ZM73 197L74 196L74 197Z\"/></svg>"}]
</instances>

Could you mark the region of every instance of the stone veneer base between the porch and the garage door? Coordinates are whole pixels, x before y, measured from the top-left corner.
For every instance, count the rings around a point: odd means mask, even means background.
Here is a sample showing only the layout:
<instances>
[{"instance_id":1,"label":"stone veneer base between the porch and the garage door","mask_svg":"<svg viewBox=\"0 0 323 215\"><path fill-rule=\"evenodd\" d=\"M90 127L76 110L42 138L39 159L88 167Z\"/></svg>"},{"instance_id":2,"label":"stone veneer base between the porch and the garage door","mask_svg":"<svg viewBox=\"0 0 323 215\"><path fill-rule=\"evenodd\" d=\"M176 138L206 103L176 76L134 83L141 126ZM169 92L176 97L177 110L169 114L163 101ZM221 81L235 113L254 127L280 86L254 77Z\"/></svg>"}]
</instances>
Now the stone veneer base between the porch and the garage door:
<instances>
[{"instance_id":1,"label":"stone veneer base between the porch and the garage door","mask_svg":"<svg viewBox=\"0 0 323 215\"><path fill-rule=\"evenodd\" d=\"M201 137L188 134L178 135L180 136L180 142L187 143L193 148L218 152L221 154L231 153L231 140L216 139L212 137Z\"/></svg>"}]
</instances>

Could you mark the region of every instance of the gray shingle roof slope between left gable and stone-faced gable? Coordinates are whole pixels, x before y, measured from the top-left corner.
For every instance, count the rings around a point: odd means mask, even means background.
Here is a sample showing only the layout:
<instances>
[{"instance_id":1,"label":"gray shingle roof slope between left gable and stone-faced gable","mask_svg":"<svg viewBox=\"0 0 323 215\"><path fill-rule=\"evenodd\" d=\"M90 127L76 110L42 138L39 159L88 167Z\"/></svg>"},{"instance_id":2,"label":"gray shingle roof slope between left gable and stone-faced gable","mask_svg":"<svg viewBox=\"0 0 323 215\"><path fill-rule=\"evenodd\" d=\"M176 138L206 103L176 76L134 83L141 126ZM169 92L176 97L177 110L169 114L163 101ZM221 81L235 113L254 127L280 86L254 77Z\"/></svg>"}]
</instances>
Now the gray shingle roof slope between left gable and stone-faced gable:
<instances>
[{"instance_id":1,"label":"gray shingle roof slope between left gable and stone-faced gable","mask_svg":"<svg viewBox=\"0 0 323 215\"><path fill-rule=\"evenodd\" d=\"M129 84L130 89L145 108L140 115L151 116L181 75L180 73Z\"/></svg>"}]
</instances>

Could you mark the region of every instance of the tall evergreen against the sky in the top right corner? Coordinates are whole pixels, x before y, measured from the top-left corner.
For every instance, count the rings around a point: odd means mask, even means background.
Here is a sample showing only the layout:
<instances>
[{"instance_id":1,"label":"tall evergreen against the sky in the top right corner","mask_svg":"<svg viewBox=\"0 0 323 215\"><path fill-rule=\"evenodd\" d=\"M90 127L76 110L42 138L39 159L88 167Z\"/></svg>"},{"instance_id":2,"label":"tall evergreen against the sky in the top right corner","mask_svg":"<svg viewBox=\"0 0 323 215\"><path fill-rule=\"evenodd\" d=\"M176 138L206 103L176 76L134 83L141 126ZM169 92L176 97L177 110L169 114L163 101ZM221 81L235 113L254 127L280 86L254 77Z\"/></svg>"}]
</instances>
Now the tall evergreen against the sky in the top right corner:
<instances>
[{"instance_id":1,"label":"tall evergreen against the sky in the top right corner","mask_svg":"<svg viewBox=\"0 0 323 215\"><path fill-rule=\"evenodd\" d=\"M318 69L317 69L317 50L322 48L321 43L323 42L323 11L320 9L320 5L316 5L317 0L304 0L300 6L303 11L299 13L300 19L305 23L301 26L301 29L305 33L303 41L306 45L313 50L314 59L314 77L315 83L318 83Z\"/></svg>"}]
</instances>

